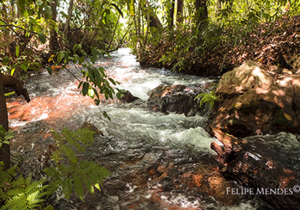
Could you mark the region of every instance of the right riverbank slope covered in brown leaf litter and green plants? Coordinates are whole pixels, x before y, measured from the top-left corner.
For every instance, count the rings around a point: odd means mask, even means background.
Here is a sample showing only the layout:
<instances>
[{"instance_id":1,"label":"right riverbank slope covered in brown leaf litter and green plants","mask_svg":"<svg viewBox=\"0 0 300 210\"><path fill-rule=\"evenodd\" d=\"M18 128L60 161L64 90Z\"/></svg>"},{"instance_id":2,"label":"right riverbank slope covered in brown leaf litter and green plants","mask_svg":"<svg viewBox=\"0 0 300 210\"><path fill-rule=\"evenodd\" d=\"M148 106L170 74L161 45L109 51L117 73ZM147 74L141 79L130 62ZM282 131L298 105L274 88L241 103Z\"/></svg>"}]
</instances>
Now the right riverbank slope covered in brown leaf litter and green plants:
<instances>
[{"instance_id":1,"label":"right riverbank slope covered in brown leaf litter and green plants","mask_svg":"<svg viewBox=\"0 0 300 210\"><path fill-rule=\"evenodd\" d=\"M148 44L141 52L141 65L200 76L220 76L246 60L283 68L300 67L300 16L242 28L239 35L231 34L230 28L211 26L207 31L209 45L201 44L203 37L194 33L164 32L157 43Z\"/></svg>"}]
</instances>

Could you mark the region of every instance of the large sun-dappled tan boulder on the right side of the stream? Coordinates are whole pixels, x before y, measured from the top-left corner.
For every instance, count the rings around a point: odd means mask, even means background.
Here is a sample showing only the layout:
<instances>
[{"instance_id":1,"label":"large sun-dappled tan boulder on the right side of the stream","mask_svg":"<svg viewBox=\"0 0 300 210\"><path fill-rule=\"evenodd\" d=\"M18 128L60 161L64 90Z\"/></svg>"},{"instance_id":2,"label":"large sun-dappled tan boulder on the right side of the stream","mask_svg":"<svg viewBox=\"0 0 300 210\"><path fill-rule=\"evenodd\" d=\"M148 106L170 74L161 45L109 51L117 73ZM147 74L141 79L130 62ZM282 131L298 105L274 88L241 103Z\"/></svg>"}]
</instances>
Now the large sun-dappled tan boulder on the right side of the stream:
<instances>
[{"instance_id":1,"label":"large sun-dappled tan boulder on the right side of the stream","mask_svg":"<svg viewBox=\"0 0 300 210\"><path fill-rule=\"evenodd\" d=\"M209 124L235 137L300 133L300 73L276 68L263 70L245 61L225 73L215 91L220 102Z\"/></svg>"}]
</instances>

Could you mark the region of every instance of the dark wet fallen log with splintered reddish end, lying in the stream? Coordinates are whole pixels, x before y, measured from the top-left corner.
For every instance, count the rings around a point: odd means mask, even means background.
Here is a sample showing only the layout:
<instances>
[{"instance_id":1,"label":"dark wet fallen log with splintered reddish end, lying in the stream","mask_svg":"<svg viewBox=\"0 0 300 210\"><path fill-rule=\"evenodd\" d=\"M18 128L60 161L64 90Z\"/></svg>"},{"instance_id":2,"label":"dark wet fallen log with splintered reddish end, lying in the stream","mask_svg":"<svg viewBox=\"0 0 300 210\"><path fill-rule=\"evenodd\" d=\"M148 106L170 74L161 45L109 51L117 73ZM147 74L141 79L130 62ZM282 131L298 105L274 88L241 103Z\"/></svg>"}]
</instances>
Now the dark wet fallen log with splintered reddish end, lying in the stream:
<instances>
[{"instance_id":1,"label":"dark wet fallen log with splintered reddish end, lying in the stream","mask_svg":"<svg viewBox=\"0 0 300 210\"><path fill-rule=\"evenodd\" d=\"M300 192L297 192L299 165L297 161L291 164L291 159L297 158L299 152L291 153L282 146L278 151L280 144L276 144L272 137L253 136L242 140L216 128L211 127L211 131L223 144L220 146L213 142L211 149L217 152L220 171L226 179L253 189L253 196L263 201L264 209L300 208ZM279 156L279 152L288 158ZM293 155L296 157L291 157ZM275 193L270 193L271 190Z\"/></svg>"}]
</instances>

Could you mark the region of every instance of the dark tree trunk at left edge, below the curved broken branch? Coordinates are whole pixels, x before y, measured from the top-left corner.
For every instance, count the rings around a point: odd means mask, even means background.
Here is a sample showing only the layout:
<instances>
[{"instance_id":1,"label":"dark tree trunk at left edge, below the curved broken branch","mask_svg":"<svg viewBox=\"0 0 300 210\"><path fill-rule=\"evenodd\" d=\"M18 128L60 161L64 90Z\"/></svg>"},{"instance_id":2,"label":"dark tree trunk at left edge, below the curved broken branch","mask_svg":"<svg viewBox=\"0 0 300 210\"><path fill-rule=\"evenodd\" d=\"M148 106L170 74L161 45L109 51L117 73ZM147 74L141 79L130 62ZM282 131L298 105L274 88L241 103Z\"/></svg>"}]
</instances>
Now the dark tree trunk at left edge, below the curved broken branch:
<instances>
[{"instance_id":1,"label":"dark tree trunk at left edge, below the curved broken branch","mask_svg":"<svg viewBox=\"0 0 300 210\"><path fill-rule=\"evenodd\" d=\"M0 74L0 125L3 126L5 131L8 131L8 116L4 97L2 74ZM2 144L2 147L0 148L0 161L4 162L4 170L10 168L10 148L8 144Z\"/></svg>"}]
</instances>

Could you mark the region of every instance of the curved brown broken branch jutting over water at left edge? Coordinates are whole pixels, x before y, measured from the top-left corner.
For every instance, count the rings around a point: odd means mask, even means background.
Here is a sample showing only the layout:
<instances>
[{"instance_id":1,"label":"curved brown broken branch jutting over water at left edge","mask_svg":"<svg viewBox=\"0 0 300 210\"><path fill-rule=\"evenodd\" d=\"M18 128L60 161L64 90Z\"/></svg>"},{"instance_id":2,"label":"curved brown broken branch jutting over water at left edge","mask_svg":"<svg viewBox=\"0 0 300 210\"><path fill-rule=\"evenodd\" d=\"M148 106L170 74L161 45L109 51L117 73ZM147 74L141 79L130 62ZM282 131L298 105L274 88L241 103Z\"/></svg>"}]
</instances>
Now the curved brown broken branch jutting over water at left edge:
<instances>
[{"instance_id":1,"label":"curved brown broken branch jutting over water at left edge","mask_svg":"<svg viewBox=\"0 0 300 210\"><path fill-rule=\"evenodd\" d=\"M4 75L4 74L2 74L1 76L2 76L3 86L5 88L12 87L16 91L16 94L18 96L22 95L24 96L27 102L30 101L29 93L27 89L23 87L21 81L18 78L16 78L15 76Z\"/></svg>"}]
</instances>

